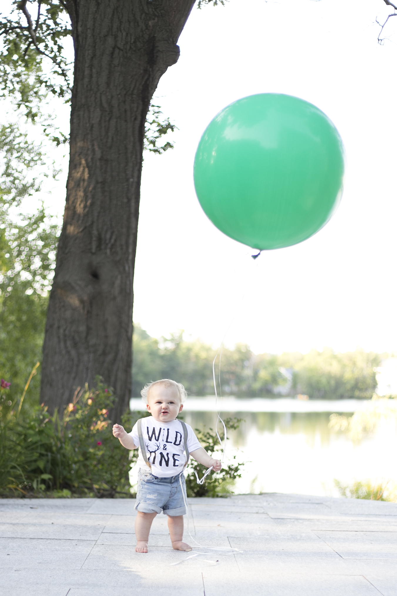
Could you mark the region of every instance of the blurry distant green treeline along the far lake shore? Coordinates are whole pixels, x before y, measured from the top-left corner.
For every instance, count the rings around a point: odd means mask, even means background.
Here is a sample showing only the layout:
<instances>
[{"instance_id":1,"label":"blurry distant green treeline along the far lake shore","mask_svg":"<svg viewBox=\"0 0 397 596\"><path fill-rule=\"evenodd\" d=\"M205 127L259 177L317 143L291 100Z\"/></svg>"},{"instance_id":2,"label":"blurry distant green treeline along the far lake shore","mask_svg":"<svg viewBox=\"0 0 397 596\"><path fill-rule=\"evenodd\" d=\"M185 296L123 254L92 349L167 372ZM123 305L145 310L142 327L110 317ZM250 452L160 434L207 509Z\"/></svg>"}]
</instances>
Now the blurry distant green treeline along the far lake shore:
<instances>
[{"instance_id":1,"label":"blurry distant green treeline along the far lake shore","mask_svg":"<svg viewBox=\"0 0 397 596\"><path fill-rule=\"evenodd\" d=\"M183 383L190 395L214 395L216 351L210 345L186 342L182 333L157 340L135 325L133 349L133 396L140 396L143 385L158 378ZM238 397L304 393L311 399L371 398L376 389L374 367L383 357L361 349L335 353L329 348L307 354L254 354L246 344L236 344L222 352L222 392Z\"/></svg>"}]
</instances>

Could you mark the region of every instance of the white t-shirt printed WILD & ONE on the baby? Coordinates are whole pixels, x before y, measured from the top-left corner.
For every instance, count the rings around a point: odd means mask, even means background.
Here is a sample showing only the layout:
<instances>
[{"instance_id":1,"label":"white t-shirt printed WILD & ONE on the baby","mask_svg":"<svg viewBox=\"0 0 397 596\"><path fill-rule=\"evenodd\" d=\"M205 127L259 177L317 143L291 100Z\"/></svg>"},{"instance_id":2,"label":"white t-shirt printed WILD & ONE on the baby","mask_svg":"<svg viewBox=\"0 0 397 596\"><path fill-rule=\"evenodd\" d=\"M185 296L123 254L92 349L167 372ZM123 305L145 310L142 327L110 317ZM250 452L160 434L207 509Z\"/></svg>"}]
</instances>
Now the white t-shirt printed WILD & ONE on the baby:
<instances>
[{"instance_id":1,"label":"white t-shirt printed WILD & ONE on the baby","mask_svg":"<svg viewBox=\"0 0 397 596\"><path fill-rule=\"evenodd\" d=\"M183 470L186 462L185 441L183 427L179 420L158 422L152 416L142 418L143 443L146 447L146 457L152 465L152 474L160 478L176 476ZM198 438L189 424L187 428L187 449L190 452L201 447ZM134 445L139 447L137 423L129 433ZM138 464L140 468L148 469L139 448Z\"/></svg>"}]
</instances>

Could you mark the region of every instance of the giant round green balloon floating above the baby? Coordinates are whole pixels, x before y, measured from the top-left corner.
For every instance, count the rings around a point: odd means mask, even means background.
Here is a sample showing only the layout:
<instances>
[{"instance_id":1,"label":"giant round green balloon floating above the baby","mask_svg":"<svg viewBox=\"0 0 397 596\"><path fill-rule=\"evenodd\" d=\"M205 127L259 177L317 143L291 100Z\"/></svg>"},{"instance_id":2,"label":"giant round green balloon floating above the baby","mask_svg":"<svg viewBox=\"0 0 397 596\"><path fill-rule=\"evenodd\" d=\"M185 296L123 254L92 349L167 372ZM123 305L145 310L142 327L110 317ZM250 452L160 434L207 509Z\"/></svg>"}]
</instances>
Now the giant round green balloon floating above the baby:
<instances>
[{"instance_id":1,"label":"giant round green balloon floating above the baby","mask_svg":"<svg viewBox=\"0 0 397 596\"><path fill-rule=\"evenodd\" d=\"M208 218L260 250L306 240L342 196L343 144L315 105L290 95L251 95L207 126L194 181Z\"/></svg>"}]
</instances>

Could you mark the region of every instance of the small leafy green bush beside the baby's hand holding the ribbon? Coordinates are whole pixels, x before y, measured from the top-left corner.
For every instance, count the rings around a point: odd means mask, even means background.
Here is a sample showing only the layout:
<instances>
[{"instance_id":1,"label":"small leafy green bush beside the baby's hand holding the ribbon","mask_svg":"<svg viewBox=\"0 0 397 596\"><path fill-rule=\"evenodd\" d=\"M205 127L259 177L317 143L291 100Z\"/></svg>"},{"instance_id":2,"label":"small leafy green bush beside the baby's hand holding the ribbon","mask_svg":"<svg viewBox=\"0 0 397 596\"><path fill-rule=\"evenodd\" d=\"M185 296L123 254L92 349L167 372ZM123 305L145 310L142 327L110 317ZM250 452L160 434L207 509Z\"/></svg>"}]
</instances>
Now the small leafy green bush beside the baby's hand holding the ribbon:
<instances>
[{"instance_id":1,"label":"small leafy green bush beside the baby's hand holding the ribbon","mask_svg":"<svg viewBox=\"0 0 397 596\"><path fill-rule=\"evenodd\" d=\"M224 420L227 430L238 429L241 422L242 420L240 418L226 418L226 420ZM207 451L207 453L212 457L219 458L219 451L223 452L223 449L220 450L219 440L216 432L211 428L208 430L195 429L195 432L205 451ZM220 433L220 437L222 440L224 439L223 430ZM233 460L236 460L235 455L233 455ZM199 485L193 470L196 470L198 477L202 478L205 471L207 471L207 468L205 465L199 464L197 461L190 458L189 465L187 467L188 474L186 477L187 496L214 497L228 494L230 495L232 493L232 487L235 484L236 479L241 477L240 469L243 465L244 464L242 463L236 462L235 464L227 465L219 472L211 472L204 480L204 483Z\"/></svg>"}]
</instances>

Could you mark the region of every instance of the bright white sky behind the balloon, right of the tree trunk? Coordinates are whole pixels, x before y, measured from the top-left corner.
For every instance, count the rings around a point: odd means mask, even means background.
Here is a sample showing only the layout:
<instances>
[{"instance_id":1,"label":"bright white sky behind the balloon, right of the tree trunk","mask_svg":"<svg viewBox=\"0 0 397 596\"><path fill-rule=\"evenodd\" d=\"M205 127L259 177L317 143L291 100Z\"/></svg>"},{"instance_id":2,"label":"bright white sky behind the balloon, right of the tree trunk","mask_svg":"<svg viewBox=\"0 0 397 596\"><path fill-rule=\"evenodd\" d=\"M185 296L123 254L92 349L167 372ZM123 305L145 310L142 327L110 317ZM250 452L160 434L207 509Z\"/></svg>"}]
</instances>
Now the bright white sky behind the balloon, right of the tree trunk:
<instances>
[{"instance_id":1,"label":"bright white sky behind the balloon, right of the tree trunk","mask_svg":"<svg viewBox=\"0 0 397 596\"><path fill-rule=\"evenodd\" d=\"M374 22L386 14L382 0L230 0L192 11L155 95L179 128L176 145L143 167L134 320L152 336L184 329L217 346L230 325L226 344L255 352L397 351L397 22L383 46ZM261 92L317 105L347 163L329 224L254 263L202 212L192 172L215 114Z\"/></svg>"}]
</instances>

